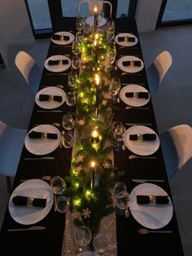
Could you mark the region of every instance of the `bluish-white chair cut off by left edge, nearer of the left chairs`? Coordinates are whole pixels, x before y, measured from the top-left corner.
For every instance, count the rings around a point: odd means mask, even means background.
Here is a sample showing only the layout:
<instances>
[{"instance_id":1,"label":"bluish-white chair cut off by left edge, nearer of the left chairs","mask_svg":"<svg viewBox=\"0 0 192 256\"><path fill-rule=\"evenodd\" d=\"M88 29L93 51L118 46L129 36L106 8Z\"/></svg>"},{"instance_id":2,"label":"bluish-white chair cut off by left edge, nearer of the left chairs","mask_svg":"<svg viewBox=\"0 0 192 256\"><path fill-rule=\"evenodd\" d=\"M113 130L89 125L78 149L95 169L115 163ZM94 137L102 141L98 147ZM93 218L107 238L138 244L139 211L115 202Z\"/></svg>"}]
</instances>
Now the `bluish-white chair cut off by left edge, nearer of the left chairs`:
<instances>
[{"instance_id":1,"label":"bluish-white chair cut off by left edge, nearer of the left chairs","mask_svg":"<svg viewBox=\"0 0 192 256\"><path fill-rule=\"evenodd\" d=\"M11 177L15 177L27 130L8 126L0 121L0 174L7 179L11 192Z\"/></svg>"}]
</instances>

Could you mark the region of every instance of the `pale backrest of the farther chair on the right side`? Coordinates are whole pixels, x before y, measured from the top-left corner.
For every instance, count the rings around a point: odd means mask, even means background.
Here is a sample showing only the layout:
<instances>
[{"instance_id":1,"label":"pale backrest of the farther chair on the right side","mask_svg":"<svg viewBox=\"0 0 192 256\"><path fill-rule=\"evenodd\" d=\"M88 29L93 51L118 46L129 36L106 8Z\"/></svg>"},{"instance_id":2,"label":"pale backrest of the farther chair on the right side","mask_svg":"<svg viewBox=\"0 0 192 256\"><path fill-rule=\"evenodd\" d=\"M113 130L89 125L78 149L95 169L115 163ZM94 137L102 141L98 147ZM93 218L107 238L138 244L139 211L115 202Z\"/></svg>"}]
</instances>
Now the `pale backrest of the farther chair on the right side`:
<instances>
[{"instance_id":1,"label":"pale backrest of the farther chair on the right side","mask_svg":"<svg viewBox=\"0 0 192 256\"><path fill-rule=\"evenodd\" d=\"M168 51L161 52L153 61L159 73L159 85L162 82L165 74L172 65L172 55Z\"/></svg>"}]
</instances>

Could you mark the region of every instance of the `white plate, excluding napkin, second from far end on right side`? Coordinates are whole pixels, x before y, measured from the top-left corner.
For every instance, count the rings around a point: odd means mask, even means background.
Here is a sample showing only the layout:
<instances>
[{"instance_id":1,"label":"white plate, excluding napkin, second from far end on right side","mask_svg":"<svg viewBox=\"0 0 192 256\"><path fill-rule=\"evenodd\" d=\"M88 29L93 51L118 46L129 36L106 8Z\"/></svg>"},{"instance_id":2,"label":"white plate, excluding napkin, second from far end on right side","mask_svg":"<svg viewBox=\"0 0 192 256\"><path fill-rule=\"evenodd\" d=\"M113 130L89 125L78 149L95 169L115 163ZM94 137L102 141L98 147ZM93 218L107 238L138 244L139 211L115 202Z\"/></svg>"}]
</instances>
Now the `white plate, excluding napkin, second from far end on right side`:
<instances>
[{"instance_id":1,"label":"white plate, excluding napkin, second from far end on right side","mask_svg":"<svg viewBox=\"0 0 192 256\"><path fill-rule=\"evenodd\" d=\"M125 67L122 62L123 61L129 61L129 60L140 60L141 61L141 66L139 67L135 67L135 66L127 66ZM124 56L124 57L121 57L118 62L117 62L117 66L124 72L127 72L127 73L137 73L139 71L142 70L142 68L144 68L144 63L141 59L135 57L135 56L132 56L132 55L128 55L128 56Z\"/></svg>"}]
</instances>

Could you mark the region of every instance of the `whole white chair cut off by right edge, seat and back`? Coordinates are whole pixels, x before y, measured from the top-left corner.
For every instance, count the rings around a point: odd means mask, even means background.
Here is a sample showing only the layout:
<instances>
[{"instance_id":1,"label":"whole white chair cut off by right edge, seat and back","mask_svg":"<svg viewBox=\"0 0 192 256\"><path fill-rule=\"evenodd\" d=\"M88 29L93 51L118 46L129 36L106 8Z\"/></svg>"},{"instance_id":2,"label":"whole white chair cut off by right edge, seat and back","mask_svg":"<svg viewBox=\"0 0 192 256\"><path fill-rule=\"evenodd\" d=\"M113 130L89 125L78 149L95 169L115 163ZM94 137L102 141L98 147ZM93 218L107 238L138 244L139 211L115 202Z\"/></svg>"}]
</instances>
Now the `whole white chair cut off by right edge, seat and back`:
<instances>
[{"instance_id":1,"label":"whole white chair cut off by right edge, seat and back","mask_svg":"<svg viewBox=\"0 0 192 256\"><path fill-rule=\"evenodd\" d=\"M160 135L160 143L168 179L171 179L192 157L192 127L174 126Z\"/></svg>"}]
</instances>

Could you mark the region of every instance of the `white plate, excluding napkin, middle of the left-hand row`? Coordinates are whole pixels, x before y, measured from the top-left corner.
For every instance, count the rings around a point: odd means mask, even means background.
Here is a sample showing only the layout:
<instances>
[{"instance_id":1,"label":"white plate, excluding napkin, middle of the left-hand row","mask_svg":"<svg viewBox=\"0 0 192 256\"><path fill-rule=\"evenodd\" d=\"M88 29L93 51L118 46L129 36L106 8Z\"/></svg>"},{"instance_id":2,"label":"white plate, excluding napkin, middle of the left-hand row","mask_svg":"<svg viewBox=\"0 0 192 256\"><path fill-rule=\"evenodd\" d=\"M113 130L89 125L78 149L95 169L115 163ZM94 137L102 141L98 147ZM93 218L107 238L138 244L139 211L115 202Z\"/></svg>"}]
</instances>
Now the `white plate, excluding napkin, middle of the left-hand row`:
<instances>
[{"instance_id":1,"label":"white plate, excluding napkin, middle of the left-hand row","mask_svg":"<svg viewBox=\"0 0 192 256\"><path fill-rule=\"evenodd\" d=\"M62 101L49 101L49 100L45 100L45 101L40 101L39 100L39 95L57 95L57 96L62 96ZM37 92L37 95L35 97L35 102L36 104L41 107L41 108L45 108L45 109L54 109L54 108L59 108L61 105L63 105L63 103L66 100L66 93L64 92L64 90L62 90L59 87L56 86L47 86L46 88L43 88L42 90L39 90Z\"/></svg>"}]
</instances>

